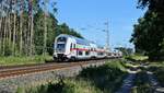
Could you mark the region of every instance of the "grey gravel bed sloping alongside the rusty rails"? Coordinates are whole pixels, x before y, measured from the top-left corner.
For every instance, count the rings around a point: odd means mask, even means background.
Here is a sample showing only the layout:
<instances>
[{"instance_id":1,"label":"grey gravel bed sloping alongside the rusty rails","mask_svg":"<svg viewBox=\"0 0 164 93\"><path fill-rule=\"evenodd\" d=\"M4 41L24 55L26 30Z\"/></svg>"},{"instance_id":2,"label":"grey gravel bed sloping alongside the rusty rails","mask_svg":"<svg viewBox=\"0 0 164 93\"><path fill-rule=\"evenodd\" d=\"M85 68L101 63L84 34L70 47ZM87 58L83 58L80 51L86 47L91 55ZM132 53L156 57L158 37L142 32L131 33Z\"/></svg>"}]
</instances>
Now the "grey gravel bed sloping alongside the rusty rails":
<instances>
[{"instance_id":1,"label":"grey gravel bed sloping alongside the rusty rails","mask_svg":"<svg viewBox=\"0 0 164 93\"><path fill-rule=\"evenodd\" d=\"M79 72L86 67L90 66L102 66L105 61L97 63L90 63L83 66L75 66L69 68L62 68L51 71L30 73L24 75L19 75L14 78L8 78L0 80L0 93L15 93L17 86L26 86L26 85L39 85L49 81L58 80L61 77L75 77Z\"/></svg>"}]
</instances>

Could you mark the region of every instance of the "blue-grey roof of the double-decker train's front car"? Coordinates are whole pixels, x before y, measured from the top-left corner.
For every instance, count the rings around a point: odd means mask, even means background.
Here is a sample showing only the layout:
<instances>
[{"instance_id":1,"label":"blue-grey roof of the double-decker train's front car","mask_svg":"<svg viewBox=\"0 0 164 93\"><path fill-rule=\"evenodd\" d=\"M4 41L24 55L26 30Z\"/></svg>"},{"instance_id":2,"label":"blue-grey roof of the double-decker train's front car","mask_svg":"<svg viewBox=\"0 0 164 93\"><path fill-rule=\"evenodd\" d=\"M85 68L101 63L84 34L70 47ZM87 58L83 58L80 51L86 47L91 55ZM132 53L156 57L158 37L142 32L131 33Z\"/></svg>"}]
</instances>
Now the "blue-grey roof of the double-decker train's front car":
<instances>
[{"instance_id":1,"label":"blue-grey roof of the double-decker train's front car","mask_svg":"<svg viewBox=\"0 0 164 93\"><path fill-rule=\"evenodd\" d=\"M90 40L86 40L86 39L83 39L83 38L79 38L79 37L75 37L75 36L72 36L72 35L60 34L58 37L60 37L60 36L74 38L77 44L81 44L81 45L90 46L90 44L94 44L93 42L90 42Z\"/></svg>"}]
</instances>

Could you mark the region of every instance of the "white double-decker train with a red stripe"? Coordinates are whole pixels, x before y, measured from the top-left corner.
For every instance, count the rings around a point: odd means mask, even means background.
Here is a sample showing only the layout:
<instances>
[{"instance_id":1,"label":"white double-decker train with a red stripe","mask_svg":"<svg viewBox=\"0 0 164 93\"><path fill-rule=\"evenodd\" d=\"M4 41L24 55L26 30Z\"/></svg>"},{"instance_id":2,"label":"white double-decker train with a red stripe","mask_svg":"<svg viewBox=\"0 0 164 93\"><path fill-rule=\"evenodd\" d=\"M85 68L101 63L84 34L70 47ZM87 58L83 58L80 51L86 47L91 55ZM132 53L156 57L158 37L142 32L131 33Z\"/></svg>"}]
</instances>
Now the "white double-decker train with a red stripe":
<instances>
[{"instance_id":1,"label":"white double-decker train with a red stripe","mask_svg":"<svg viewBox=\"0 0 164 93\"><path fill-rule=\"evenodd\" d=\"M105 57L121 57L121 53L109 53L93 42L61 34L56 37L54 44L55 60L80 60Z\"/></svg>"}]
</instances>

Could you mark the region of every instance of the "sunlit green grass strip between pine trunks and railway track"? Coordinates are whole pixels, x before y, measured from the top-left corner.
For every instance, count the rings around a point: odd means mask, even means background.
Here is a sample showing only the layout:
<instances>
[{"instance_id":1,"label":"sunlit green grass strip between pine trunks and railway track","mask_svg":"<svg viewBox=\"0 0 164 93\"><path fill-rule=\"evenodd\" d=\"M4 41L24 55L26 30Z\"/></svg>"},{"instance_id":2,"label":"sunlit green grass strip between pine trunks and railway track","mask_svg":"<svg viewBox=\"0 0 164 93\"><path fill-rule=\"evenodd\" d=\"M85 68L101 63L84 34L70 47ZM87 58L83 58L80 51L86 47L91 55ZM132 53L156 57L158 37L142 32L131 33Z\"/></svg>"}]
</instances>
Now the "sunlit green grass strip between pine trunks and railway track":
<instances>
[{"instance_id":1,"label":"sunlit green grass strip between pine trunks and railway track","mask_svg":"<svg viewBox=\"0 0 164 93\"><path fill-rule=\"evenodd\" d=\"M0 57L0 66L15 66L30 63L44 63L45 60L52 59L51 56L33 56L33 57Z\"/></svg>"}]
</instances>

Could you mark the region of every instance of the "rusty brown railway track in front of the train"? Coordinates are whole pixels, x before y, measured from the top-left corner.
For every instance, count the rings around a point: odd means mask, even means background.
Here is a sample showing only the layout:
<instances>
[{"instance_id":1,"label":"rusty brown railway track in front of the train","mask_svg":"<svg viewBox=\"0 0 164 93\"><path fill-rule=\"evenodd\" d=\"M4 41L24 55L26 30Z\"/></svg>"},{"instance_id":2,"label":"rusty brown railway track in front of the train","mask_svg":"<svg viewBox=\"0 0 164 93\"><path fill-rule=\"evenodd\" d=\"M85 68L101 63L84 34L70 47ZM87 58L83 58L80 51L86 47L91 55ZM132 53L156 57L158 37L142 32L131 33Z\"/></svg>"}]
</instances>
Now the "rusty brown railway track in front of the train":
<instances>
[{"instance_id":1,"label":"rusty brown railway track in front of the train","mask_svg":"<svg viewBox=\"0 0 164 93\"><path fill-rule=\"evenodd\" d=\"M80 61L80 62L62 62L62 63L40 63L40 65L23 65L23 66L10 66L10 67L0 67L0 79L11 78L11 77L17 77L28 73L35 73L35 72L44 72L49 70L57 70L57 69L63 69L63 68L70 68L75 66L84 66L87 63L96 63L103 60L90 60L90 61Z\"/></svg>"}]
</instances>

